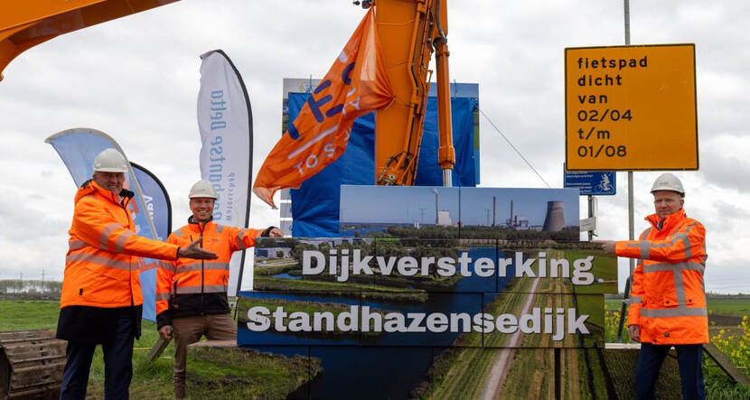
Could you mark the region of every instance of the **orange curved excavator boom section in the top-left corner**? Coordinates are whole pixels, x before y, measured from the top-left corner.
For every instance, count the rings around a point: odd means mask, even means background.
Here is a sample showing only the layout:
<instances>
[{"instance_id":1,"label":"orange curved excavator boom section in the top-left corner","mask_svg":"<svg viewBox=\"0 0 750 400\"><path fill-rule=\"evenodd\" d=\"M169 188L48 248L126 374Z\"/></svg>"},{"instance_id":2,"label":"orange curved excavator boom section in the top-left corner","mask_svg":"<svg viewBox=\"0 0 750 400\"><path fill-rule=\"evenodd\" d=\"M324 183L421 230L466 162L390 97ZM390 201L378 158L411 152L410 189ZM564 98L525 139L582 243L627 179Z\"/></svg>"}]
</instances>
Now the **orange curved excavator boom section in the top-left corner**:
<instances>
[{"instance_id":1,"label":"orange curved excavator boom section in the top-left corner","mask_svg":"<svg viewBox=\"0 0 750 400\"><path fill-rule=\"evenodd\" d=\"M18 54L57 35L140 13L177 0L4 1L0 13L0 80Z\"/></svg>"}]
</instances>

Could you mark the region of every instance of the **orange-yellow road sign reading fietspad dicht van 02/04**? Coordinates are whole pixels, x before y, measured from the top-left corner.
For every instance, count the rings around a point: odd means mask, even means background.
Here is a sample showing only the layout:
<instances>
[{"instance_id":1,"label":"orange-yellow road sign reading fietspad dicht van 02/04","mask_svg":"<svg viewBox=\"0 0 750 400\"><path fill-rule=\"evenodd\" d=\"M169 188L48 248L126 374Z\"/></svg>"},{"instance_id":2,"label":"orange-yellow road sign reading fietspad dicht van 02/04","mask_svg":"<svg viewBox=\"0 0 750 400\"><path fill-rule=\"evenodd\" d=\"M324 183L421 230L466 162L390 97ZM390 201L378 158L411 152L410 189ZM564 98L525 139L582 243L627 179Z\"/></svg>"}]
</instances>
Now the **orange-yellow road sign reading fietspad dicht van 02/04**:
<instances>
[{"instance_id":1,"label":"orange-yellow road sign reading fietspad dicht van 02/04","mask_svg":"<svg viewBox=\"0 0 750 400\"><path fill-rule=\"evenodd\" d=\"M697 170L695 45L565 49L569 171Z\"/></svg>"}]
</instances>

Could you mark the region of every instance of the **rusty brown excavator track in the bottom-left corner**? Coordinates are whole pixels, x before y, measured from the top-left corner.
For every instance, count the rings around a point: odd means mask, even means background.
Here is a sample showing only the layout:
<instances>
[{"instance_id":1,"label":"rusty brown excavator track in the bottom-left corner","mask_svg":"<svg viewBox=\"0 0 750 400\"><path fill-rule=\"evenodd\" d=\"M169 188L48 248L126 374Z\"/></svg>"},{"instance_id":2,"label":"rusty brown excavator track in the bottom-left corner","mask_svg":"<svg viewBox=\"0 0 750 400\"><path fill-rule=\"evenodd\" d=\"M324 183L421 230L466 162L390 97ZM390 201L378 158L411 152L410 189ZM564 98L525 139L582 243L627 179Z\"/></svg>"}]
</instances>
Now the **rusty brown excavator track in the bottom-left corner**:
<instances>
[{"instance_id":1,"label":"rusty brown excavator track in the bottom-left corner","mask_svg":"<svg viewBox=\"0 0 750 400\"><path fill-rule=\"evenodd\" d=\"M66 346L52 330L0 332L0 399L60 397Z\"/></svg>"}]
</instances>

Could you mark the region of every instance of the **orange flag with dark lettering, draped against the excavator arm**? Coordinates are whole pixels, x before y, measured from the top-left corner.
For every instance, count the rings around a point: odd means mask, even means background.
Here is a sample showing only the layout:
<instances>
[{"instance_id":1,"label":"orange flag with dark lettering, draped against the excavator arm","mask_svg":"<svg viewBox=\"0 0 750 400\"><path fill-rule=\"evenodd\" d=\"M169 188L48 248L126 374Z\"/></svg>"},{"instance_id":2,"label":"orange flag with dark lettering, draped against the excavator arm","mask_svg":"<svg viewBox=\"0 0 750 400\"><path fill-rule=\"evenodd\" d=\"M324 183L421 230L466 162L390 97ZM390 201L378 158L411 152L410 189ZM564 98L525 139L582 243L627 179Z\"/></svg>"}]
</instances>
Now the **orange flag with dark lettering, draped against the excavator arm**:
<instances>
[{"instance_id":1,"label":"orange flag with dark lettering, draped against the excavator arm","mask_svg":"<svg viewBox=\"0 0 750 400\"><path fill-rule=\"evenodd\" d=\"M253 192L276 209L276 191L298 188L333 163L346 150L354 120L388 106L393 98L374 8L370 8L286 134L268 153Z\"/></svg>"}]
</instances>

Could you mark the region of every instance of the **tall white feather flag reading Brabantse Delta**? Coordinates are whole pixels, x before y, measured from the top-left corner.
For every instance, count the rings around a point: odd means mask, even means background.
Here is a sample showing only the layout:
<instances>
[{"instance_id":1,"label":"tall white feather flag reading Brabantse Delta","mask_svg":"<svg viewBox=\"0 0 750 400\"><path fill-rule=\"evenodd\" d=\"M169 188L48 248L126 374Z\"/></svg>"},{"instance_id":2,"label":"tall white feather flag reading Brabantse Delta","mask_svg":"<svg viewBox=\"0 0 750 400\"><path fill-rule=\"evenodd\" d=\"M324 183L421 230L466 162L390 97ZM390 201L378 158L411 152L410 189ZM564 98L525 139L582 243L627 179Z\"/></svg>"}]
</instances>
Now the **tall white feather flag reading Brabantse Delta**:
<instances>
[{"instance_id":1,"label":"tall white feather flag reading Brabantse Delta","mask_svg":"<svg viewBox=\"0 0 750 400\"><path fill-rule=\"evenodd\" d=\"M219 194L213 209L214 222L248 228L253 153L248 91L224 51L209 51L201 59L201 91L198 93L201 177L210 181ZM239 291L244 259L244 251L231 258L230 296Z\"/></svg>"}]
</instances>

